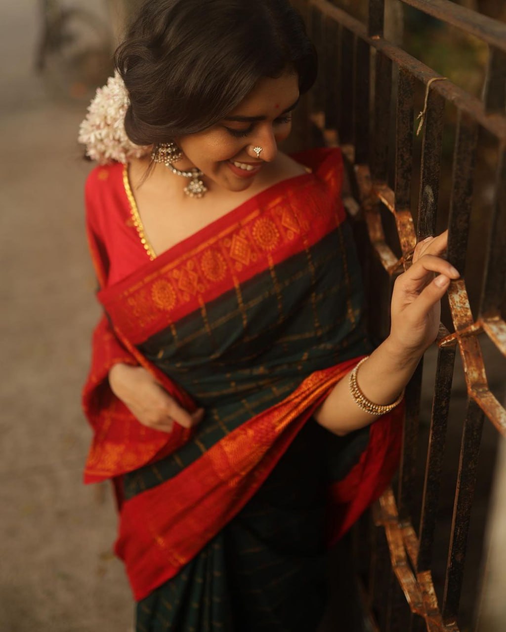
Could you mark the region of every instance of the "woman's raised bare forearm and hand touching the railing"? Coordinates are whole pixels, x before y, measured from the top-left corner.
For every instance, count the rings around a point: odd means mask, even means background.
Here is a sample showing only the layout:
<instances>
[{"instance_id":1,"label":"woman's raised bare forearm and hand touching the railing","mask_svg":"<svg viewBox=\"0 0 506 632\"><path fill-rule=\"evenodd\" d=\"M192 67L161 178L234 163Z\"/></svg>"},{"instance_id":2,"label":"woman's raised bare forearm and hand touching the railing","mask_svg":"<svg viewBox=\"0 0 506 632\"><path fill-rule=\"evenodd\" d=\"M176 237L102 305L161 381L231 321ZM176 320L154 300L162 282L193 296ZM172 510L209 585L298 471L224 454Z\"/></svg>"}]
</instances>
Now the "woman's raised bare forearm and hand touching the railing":
<instances>
[{"instance_id":1,"label":"woman's raised bare forearm and hand touching the railing","mask_svg":"<svg viewBox=\"0 0 506 632\"><path fill-rule=\"evenodd\" d=\"M440 300L450 279L459 277L459 272L440 257L447 240L445 231L417 244L413 265L395 281L390 336L357 372L360 390L375 404L390 404L398 398L438 334ZM434 278L435 273L438 276ZM347 378L336 384L314 416L318 423L338 435L362 428L378 418L355 403Z\"/></svg>"}]
</instances>

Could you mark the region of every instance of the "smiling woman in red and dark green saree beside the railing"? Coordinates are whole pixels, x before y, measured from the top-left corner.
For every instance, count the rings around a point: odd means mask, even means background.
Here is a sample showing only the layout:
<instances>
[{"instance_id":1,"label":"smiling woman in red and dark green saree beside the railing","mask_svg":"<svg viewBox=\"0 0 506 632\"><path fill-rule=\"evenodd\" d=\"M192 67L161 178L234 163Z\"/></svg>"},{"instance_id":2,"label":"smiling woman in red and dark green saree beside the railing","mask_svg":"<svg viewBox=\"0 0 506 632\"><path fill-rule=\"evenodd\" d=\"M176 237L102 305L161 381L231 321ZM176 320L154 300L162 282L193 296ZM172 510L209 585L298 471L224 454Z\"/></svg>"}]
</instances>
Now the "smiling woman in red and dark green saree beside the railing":
<instances>
[{"instance_id":1,"label":"smiling woman in red and dark green saree beside the railing","mask_svg":"<svg viewBox=\"0 0 506 632\"><path fill-rule=\"evenodd\" d=\"M137 629L316 630L326 545L397 465L398 404L458 276L446 236L417 246L366 356L340 152L278 150L316 76L288 1L151 0L116 66L82 128L120 160L86 191L106 312L86 480L114 480Z\"/></svg>"}]
</instances>

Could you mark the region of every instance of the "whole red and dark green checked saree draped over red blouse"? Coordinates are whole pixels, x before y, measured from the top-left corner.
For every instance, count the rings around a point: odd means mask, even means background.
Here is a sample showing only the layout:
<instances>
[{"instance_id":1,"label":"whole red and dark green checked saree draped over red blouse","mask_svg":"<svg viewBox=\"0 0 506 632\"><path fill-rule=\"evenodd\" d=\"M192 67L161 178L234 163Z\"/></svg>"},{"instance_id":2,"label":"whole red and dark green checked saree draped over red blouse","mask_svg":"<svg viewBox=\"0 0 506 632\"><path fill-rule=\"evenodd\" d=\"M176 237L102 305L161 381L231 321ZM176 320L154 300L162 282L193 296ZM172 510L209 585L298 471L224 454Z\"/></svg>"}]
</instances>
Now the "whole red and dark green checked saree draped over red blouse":
<instances>
[{"instance_id":1,"label":"whole red and dark green checked saree draped over red blouse","mask_svg":"<svg viewBox=\"0 0 506 632\"><path fill-rule=\"evenodd\" d=\"M287 603L297 591L311 602L324 540L352 525L397 466L402 407L347 437L312 419L370 349L340 152L297 159L313 173L271 186L117 283L107 284L104 247L90 235L106 317L84 391L94 428L85 480L113 478L120 492L116 552L139 630L311 629L300 612L287 623ZM108 387L118 361L204 408L202 423L170 434L140 425Z\"/></svg>"}]
</instances>

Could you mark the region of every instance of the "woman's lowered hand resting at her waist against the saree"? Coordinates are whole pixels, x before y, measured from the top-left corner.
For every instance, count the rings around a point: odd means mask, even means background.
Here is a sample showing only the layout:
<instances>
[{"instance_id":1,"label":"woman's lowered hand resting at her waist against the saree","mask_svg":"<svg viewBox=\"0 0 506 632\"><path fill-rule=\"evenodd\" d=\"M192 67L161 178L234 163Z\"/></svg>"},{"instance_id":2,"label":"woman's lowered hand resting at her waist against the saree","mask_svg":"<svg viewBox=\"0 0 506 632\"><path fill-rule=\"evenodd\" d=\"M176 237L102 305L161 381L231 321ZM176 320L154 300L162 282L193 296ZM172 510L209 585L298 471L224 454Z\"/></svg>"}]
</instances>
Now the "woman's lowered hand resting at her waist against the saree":
<instances>
[{"instance_id":1,"label":"woman's lowered hand resting at her waist against the saree","mask_svg":"<svg viewBox=\"0 0 506 632\"><path fill-rule=\"evenodd\" d=\"M204 416L202 408L194 413L181 408L143 367L115 364L109 371L109 385L132 415L154 430L171 432L174 422L184 428L191 428L201 422Z\"/></svg>"}]
</instances>

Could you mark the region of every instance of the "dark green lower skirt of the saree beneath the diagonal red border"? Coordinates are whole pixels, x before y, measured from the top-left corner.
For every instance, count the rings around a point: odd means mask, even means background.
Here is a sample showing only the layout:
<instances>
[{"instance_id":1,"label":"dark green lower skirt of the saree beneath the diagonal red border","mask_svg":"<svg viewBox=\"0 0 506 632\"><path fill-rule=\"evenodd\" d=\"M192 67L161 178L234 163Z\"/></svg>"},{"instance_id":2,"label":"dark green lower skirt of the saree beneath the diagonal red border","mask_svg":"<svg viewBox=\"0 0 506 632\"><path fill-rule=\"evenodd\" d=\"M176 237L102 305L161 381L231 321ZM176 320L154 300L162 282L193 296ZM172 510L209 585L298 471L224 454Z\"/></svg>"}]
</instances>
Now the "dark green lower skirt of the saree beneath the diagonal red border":
<instances>
[{"instance_id":1,"label":"dark green lower skirt of the saree beneath the diagonal red border","mask_svg":"<svg viewBox=\"0 0 506 632\"><path fill-rule=\"evenodd\" d=\"M316 629L326 602L328 464L321 454L327 441L328 433L316 423L305 425L244 509L180 574L139 603L142 626L146 604L153 604L154 595L158 604L166 602L173 611L173 586L184 583L194 586L194 611L206 612L206 599L198 599L202 585L219 604L209 628L213 631ZM195 617L198 620L196 612ZM175 614L169 621L174 623L162 629L191 629L179 627Z\"/></svg>"}]
</instances>

